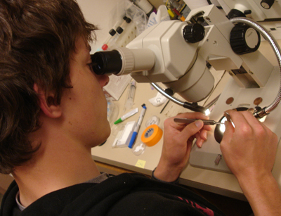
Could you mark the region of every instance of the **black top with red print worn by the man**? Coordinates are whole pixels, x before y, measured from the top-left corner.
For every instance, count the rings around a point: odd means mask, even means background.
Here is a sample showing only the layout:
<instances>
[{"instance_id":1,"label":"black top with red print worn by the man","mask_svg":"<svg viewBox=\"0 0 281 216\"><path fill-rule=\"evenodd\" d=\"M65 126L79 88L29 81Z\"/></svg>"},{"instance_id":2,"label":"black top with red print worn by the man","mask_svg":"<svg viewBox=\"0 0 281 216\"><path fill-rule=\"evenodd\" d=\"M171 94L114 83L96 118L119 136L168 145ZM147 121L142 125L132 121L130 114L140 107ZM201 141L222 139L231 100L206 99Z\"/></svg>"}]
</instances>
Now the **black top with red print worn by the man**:
<instances>
[{"instance_id":1,"label":"black top with red print worn by the man","mask_svg":"<svg viewBox=\"0 0 281 216\"><path fill-rule=\"evenodd\" d=\"M141 174L120 174L105 181L53 191L20 211L13 182L1 203L0 216L10 215L223 215L214 205L181 186ZM17 210L18 209L18 210Z\"/></svg>"}]
</instances>

